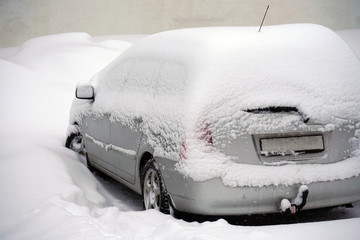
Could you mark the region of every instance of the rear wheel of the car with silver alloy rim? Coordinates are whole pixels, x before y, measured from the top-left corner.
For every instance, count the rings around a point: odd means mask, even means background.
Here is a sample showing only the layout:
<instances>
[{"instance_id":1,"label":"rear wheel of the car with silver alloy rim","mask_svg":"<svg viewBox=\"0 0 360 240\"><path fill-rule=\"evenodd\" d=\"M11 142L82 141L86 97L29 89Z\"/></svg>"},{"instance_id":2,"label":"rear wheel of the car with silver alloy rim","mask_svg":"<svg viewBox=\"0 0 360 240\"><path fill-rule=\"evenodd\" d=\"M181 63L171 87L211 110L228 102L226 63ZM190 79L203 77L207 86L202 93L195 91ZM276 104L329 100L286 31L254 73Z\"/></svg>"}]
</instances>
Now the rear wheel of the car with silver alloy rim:
<instances>
[{"instance_id":1,"label":"rear wheel of the car with silver alloy rim","mask_svg":"<svg viewBox=\"0 0 360 240\"><path fill-rule=\"evenodd\" d=\"M142 202L145 210L155 209L169 214L169 199L161 172L154 161L149 160L141 173Z\"/></svg>"}]
</instances>

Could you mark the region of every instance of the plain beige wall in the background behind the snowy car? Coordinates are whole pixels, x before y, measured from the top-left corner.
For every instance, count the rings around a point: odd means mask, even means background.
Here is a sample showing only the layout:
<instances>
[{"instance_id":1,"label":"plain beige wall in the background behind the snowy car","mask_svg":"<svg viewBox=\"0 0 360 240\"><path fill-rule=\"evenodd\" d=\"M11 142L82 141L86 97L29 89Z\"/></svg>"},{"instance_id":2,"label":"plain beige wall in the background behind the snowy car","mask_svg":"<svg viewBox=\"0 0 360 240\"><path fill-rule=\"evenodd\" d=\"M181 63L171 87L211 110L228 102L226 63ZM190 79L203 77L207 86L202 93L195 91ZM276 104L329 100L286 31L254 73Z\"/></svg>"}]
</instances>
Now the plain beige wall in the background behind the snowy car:
<instances>
[{"instance_id":1,"label":"plain beige wall in the background behind the snowy car","mask_svg":"<svg viewBox=\"0 0 360 240\"><path fill-rule=\"evenodd\" d=\"M360 0L0 0L0 47L41 35L149 34L167 29L311 22L360 28Z\"/></svg>"}]
</instances>

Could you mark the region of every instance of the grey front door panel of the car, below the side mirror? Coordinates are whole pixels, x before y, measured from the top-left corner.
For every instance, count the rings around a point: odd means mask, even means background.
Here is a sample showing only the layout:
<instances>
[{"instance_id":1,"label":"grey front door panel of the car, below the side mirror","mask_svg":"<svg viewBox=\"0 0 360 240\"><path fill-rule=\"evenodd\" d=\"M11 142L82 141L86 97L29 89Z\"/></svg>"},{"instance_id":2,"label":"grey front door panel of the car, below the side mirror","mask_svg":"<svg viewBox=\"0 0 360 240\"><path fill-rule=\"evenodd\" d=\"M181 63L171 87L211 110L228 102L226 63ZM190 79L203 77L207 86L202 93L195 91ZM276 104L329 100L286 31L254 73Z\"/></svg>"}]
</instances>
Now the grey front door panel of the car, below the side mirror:
<instances>
[{"instance_id":1,"label":"grey front door panel of the car, below the side mirror","mask_svg":"<svg viewBox=\"0 0 360 240\"><path fill-rule=\"evenodd\" d=\"M85 149L92 163L114 172L110 150L110 120L109 115L90 115L86 117Z\"/></svg>"}]
</instances>

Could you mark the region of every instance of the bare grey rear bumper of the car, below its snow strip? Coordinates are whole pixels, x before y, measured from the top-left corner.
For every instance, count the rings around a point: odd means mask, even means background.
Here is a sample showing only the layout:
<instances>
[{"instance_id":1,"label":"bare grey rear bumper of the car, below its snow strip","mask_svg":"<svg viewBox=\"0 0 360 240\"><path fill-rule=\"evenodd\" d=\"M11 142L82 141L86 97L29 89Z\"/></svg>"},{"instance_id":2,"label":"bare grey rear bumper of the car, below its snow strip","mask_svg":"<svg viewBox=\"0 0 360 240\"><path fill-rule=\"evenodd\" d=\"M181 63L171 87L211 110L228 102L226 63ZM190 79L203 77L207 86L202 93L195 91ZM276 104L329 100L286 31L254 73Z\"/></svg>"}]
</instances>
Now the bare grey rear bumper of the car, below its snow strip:
<instances>
[{"instance_id":1,"label":"bare grey rear bumper of the car, below its snow strip","mask_svg":"<svg viewBox=\"0 0 360 240\"><path fill-rule=\"evenodd\" d=\"M163 178L174 207L205 215L244 215L280 212L280 202L293 200L301 184L291 186L227 187L221 179L193 181L161 161ZM167 166L166 166L167 165ZM164 171L164 169L172 169ZM309 196L303 209L337 206L360 200L360 176L307 184Z\"/></svg>"}]
</instances>

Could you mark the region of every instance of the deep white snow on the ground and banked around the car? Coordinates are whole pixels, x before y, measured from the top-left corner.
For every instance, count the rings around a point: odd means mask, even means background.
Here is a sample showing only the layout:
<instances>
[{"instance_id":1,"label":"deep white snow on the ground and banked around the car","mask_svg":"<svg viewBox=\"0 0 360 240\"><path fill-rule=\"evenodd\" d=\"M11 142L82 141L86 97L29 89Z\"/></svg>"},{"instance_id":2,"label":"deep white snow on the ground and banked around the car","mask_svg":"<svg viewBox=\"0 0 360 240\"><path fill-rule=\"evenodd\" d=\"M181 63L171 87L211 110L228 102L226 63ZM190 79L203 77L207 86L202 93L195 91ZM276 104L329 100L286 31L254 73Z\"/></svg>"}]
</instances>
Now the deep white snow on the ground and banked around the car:
<instances>
[{"instance_id":1,"label":"deep white snow on the ground and banked around the car","mask_svg":"<svg viewBox=\"0 0 360 240\"><path fill-rule=\"evenodd\" d=\"M339 34L357 51L359 33ZM185 222L142 211L139 196L89 172L64 141L76 83L130 45L121 36L106 39L69 33L0 49L0 239L359 238L359 203L285 220L280 215L228 219L270 226Z\"/></svg>"}]
</instances>

